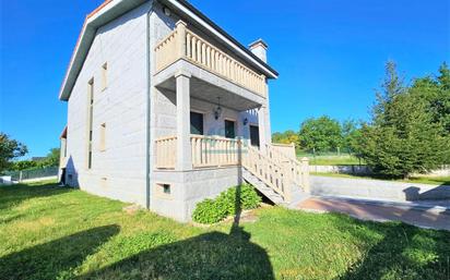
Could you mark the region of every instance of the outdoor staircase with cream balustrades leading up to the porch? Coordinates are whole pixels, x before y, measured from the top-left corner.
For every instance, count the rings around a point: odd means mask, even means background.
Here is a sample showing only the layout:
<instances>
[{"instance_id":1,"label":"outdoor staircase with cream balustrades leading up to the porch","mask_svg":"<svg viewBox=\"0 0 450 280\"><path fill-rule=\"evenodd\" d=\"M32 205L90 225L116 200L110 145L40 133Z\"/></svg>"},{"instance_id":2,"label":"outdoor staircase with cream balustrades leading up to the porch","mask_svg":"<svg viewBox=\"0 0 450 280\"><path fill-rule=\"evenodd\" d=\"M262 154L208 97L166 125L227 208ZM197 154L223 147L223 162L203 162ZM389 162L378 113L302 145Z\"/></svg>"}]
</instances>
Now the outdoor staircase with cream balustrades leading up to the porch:
<instances>
[{"instance_id":1,"label":"outdoor staircase with cream balustrades leading up to the porch","mask_svg":"<svg viewBox=\"0 0 450 280\"><path fill-rule=\"evenodd\" d=\"M295 207L309 197L308 159L300 162L272 145L265 153L247 148L242 178L276 205Z\"/></svg>"}]
</instances>

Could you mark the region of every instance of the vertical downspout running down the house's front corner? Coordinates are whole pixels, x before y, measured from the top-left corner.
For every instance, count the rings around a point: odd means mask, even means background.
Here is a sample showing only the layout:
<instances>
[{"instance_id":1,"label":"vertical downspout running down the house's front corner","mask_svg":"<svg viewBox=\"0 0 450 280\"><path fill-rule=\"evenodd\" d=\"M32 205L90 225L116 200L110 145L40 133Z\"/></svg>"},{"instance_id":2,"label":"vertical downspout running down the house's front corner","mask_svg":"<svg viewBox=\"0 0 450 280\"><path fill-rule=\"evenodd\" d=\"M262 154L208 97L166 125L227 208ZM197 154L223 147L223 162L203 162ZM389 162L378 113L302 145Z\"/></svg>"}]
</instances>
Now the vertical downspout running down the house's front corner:
<instances>
[{"instance_id":1,"label":"vertical downspout running down the house's front corner","mask_svg":"<svg viewBox=\"0 0 450 280\"><path fill-rule=\"evenodd\" d=\"M146 14L146 40L145 40L145 46L146 46L146 108L145 108L145 113L146 113L146 120L145 120L145 208L150 209L150 171L151 171L151 158L150 158L150 149L151 149L151 143L150 143L150 126L151 126L151 93L152 93L152 83L151 83L151 44L150 44L150 16L153 12L153 3L150 7L150 10Z\"/></svg>"}]
</instances>

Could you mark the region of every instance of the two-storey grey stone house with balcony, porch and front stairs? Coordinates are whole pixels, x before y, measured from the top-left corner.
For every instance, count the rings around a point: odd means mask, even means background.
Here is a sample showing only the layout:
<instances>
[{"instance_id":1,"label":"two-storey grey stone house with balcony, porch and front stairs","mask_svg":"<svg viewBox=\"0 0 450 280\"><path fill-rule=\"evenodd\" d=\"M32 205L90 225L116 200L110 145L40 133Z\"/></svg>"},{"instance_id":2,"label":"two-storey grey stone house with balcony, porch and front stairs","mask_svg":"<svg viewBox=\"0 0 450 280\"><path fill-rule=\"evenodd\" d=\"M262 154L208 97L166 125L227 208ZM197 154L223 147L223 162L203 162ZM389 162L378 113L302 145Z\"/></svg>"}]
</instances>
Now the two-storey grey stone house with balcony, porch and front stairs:
<instances>
[{"instance_id":1,"label":"two-storey grey stone house with balcony, porch and front stairs","mask_svg":"<svg viewBox=\"0 0 450 280\"><path fill-rule=\"evenodd\" d=\"M107 0L87 15L59 94L66 183L180 221L242 180L280 204L308 192L307 162L271 145L279 74L267 49L183 0Z\"/></svg>"}]
</instances>

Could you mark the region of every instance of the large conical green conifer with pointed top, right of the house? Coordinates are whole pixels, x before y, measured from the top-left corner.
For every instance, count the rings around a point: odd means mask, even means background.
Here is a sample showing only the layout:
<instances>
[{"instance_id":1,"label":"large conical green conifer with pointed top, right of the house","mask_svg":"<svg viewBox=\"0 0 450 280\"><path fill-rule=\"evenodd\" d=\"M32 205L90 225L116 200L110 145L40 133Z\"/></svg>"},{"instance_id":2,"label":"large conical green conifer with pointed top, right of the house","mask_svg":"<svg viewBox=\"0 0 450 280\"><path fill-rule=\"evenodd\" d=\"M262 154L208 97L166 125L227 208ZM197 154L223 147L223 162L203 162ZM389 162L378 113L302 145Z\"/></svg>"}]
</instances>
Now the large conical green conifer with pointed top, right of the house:
<instances>
[{"instance_id":1,"label":"large conical green conifer with pointed top, right of the house","mask_svg":"<svg viewBox=\"0 0 450 280\"><path fill-rule=\"evenodd\" d=\"M450 151L443 126L435 121L423 95L403 85L395 64L388 62L370 123L364 123L359 154L382 175L404 178L445 163Z\"/></svg>"}]
</instances>

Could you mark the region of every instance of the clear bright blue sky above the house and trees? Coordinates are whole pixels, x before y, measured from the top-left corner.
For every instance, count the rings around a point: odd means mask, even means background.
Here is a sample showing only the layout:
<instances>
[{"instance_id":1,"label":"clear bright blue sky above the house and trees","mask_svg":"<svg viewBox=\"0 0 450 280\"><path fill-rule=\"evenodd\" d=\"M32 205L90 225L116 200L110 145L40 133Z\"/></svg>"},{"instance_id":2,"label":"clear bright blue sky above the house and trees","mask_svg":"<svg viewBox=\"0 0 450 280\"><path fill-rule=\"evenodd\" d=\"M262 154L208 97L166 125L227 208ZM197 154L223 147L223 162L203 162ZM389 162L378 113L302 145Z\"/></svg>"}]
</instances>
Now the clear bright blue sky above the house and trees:
<instances>
[{"instance_id":1,"label":"clear bright blue sky above the house and trees","mask_svg":"<svg viewBox=\"0 0 450 280\"><path fill-rule=\"evenodd\" d=\"M1 1L0 131L25 143L27 157L59 145L62 77L85 14L100 0ZM367 119L374 89L392 59L406 77L450 62L448 0L192 0L247 45L262 37L270 64L272 131L298 130L310 117Z\"/></svg>"}]
</instances>

